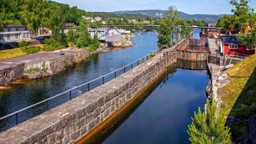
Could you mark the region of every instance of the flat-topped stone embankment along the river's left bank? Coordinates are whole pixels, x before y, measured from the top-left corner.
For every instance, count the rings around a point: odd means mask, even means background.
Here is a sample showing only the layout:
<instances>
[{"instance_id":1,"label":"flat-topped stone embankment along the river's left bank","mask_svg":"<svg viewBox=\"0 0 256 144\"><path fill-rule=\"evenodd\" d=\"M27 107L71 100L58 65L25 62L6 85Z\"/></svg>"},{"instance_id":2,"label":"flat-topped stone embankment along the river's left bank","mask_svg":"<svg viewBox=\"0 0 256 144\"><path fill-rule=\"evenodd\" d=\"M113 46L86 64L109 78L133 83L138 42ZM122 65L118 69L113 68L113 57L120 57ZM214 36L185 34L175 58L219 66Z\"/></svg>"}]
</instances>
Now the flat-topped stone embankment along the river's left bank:
<instances>
[{"instance_id":1,"label":"flat-topped stone embankment along the river's left bank","mask_svg":"<svg viewBox=\"0 0 256 144\"><path fill-rule=\"evenodd\" d=\"M22 78L37 79L55 75L65 68L85 61L91 54L82 49L33 53L13 59L0 61L0 85L5 85Z\"/></svg>"}]
</instances>

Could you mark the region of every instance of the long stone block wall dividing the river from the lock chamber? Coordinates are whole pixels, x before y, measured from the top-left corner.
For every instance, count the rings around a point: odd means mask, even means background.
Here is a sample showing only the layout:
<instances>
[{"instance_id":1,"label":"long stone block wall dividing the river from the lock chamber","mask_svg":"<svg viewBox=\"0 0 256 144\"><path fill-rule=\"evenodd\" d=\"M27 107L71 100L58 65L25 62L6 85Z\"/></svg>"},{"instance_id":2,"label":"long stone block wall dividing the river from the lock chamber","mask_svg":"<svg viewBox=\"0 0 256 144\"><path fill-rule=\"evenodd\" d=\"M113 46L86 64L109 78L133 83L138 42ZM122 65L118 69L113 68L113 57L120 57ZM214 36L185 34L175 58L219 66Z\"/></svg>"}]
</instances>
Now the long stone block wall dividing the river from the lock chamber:
<instances>
[{"instance_id":1,"label":"long stone block wall dividing the river from the lock chamber","mask_svg":"<svg viewBox=\"0 0 256 144\"><path fill-rule=\"evenodd\" d=\"M117 79L0 133L0 143L74 143L176 61L177 53L165 49Z\"/></svg>"}]
</instances>

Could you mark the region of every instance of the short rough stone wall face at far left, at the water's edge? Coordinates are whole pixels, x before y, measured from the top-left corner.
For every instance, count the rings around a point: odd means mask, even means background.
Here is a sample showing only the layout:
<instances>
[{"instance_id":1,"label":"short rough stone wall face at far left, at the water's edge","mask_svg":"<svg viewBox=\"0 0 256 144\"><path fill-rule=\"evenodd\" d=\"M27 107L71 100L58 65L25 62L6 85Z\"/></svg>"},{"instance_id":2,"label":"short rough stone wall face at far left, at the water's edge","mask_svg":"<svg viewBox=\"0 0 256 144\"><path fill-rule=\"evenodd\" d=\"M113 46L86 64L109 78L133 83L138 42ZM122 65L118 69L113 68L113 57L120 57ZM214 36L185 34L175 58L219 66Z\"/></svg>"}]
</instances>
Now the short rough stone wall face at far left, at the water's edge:
<instances>
[{"instance_id":1,"label":"short rough stone wall face at far left, at the water's edge","mask_svg":"<svg viewBox=\"0 0 256 144\"><path fill-rule=\"evenodd\" d=\"M21 79L23 77L24 68L25 63L20 63L0 69L0 85L5 85L17 79Z\"/></svg>"}]
</instances>

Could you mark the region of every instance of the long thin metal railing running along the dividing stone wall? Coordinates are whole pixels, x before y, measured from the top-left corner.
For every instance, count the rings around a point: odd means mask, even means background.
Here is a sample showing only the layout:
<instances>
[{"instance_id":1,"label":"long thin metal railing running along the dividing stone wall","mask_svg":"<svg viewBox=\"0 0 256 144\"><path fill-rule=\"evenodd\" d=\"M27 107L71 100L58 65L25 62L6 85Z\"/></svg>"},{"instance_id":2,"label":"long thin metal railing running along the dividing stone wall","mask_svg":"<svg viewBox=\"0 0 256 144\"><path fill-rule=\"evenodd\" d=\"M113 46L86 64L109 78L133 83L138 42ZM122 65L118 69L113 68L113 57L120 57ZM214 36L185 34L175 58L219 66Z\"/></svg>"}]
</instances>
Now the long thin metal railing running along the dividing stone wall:
<instances>
[{"instance_id":1,"label":"long thin metal railing running along the dividing stone wall","mask_svg":"<svg viewBox=\"0 0 256 144\"><path fill-rule=\"evenodd\" d=\"M117 69L116 71L113 71L111 73L107 73L107 75L103 75L101 77L98 77L97 79L93 79L92 81L89 81L87 83L83 83L82 85L79 85L77 87L73 87L72 89L69 89L67 91L64 91L63 93L59 93L57 95L54 95L53 97L49 97L48 99L45 99L43 101L40 101L38 103L35 103L33 105L30 105L29 107L25 107L23 109L20 109L19 111L15 111L13 113L10 113L9 115L5 115L4 117L0 118L0 122L3 120L9 120L13 121L13 119L9 119L11 117L15 117L15 121L11 124L11 126L8 127L0 127L0 131L5 131L6 129L9 129L15 125L18 125L19 123L22 123L23 121L27 121L28 119L31 119L32 117L35 117L36 115L39 115L49 109L52 109L54 107L57 107L58 105L54 104L53 107L50 107L50 101L53 99L57 99L57 97L61 97L65 95L65 101L62 101L62 103L65 103L67 101L70 101L71 99L81 95L82 93L85 93L87 91L91 91L92 89L95 89L96 87L99 87L100 85L103 85L104 83L107 83L108 81L111 81L112 79L117 78L119 75L122 75L123 73L126 73L127 71L133 69L134 67L137 67L141 63L144 63L148 59L151 59L151 57L154 57L159 53L159 50L157 51L152 51L148 55L145 55L141 57L140 59L137 59L136 61L133 61L132 63L129 63L128 65L125 65L124 67L121 67L120 69ZM75 95L75 93L77 93ZM58 100L59 101L59 100ZM46 103L46 109L41 112L37 112L36 115L32 115L31 117L21 117L22 119L19 119L19 114L26 111L27 109L32 109L35 107L38 107L39 105ZM59 104L61 105L61 104ZM41 108L41 107L40 107ZM42 109L42 108L41 108ZM8 121L7 120L7 121ZM22 122L21 122L22 121Z\"/></svg>"}]
</instances>

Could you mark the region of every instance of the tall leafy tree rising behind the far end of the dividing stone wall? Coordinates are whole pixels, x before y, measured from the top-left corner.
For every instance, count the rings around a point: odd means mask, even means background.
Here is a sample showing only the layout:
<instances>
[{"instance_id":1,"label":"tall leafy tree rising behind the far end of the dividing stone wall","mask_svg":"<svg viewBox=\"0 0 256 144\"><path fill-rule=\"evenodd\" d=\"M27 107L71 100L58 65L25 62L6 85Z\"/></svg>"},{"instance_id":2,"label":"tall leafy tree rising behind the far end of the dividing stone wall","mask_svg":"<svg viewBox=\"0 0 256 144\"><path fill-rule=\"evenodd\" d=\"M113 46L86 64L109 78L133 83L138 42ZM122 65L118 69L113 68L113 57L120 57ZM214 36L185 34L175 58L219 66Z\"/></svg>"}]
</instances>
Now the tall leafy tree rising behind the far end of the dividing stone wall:
<instances>
[{"instance_id":1,"label":"tall leafy tree rising behind the far end of the dividing stone wall","mask_svg":"<svg viewBox=\"0 0 256 144\"><path fill-rule=\"evenodd\" d=\"M181 37L187 37L191 31L185 27L187 22L179 17L177 9L173 6L169 7L169 11L167 11L165 19L161 19L160 25L157 42L160 48L178 40L179 27L181 27Z\"/></svg>"}]
</instances>

